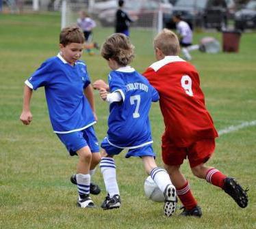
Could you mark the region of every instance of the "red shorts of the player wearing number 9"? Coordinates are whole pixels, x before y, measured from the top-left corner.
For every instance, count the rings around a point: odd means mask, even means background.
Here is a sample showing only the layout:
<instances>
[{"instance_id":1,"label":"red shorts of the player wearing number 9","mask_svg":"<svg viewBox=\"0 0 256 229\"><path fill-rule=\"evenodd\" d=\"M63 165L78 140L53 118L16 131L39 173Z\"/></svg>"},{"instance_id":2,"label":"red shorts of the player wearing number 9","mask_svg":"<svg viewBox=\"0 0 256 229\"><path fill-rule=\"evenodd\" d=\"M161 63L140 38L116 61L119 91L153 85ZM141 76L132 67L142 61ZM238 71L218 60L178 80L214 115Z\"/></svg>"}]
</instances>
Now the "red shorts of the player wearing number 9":
<instances>
[{"instance_id":1,"label":"red shorts of the player wearing number 9","mask_svg":"<svg viewBox=\"0 0 256 229\"><path fill-rule=\"evenodd\" d=\"M207 162L214 153L215 138L208 138L192 143L189 147L176 147L168 141L162 141L162 159L168 166L179 166L188 157L190 167Z\"/></svg>"}]
</instances>

